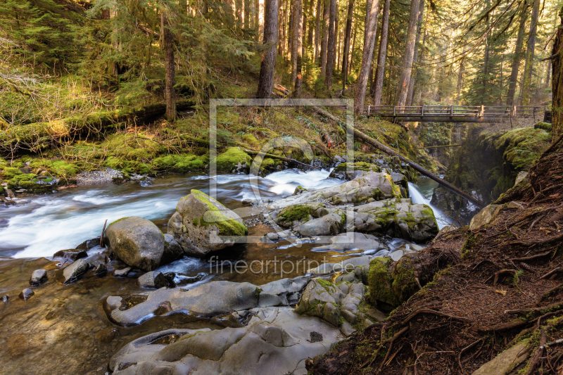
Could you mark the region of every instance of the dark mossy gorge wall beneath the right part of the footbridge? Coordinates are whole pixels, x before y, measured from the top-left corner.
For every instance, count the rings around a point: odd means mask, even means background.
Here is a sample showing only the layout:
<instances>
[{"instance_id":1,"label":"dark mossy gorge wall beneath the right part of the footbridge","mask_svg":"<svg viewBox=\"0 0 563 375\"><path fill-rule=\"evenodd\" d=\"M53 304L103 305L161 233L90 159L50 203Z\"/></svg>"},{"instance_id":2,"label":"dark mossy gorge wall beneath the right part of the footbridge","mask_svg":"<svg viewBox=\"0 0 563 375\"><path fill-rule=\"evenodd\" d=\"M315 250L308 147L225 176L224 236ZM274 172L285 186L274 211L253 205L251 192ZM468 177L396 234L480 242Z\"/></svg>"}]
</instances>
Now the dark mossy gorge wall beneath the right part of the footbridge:
<instances>
[{"instance_id":1,"label":"dark mossy gorge wall beneath the right part of the footbridge","mask_svg":"<svg viewBox=\"0 0 563 375\"><path fill-rule=\"evenodd\" d=\"M479 191L491 202L528 170L549 146L550 134L542 127L525 127L504 132L470 129L462 146L450 160L445 180L464 191Z\"/></svg>"}]
</instances>

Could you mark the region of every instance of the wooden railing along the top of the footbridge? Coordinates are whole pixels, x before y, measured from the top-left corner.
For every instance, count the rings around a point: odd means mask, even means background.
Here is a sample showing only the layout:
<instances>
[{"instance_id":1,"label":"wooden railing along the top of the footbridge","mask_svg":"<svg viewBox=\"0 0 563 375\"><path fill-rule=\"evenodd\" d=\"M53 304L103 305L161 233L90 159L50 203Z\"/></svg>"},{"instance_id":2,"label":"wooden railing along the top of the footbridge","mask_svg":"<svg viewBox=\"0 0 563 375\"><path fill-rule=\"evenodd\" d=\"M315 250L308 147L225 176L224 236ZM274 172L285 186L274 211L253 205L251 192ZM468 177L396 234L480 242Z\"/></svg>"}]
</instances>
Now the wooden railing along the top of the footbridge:
<instances>
[{"instance_id":1,"label":"wooden railing along the top of the footbridge","mask_svg":"<svg viewBox=\"0 0 563 375\"><path fill-rule=\"evenodd\" d=\"M368 116L381 117L519 117L541 114L543 106L368 106Z\"/></svg>"}]
</instances>

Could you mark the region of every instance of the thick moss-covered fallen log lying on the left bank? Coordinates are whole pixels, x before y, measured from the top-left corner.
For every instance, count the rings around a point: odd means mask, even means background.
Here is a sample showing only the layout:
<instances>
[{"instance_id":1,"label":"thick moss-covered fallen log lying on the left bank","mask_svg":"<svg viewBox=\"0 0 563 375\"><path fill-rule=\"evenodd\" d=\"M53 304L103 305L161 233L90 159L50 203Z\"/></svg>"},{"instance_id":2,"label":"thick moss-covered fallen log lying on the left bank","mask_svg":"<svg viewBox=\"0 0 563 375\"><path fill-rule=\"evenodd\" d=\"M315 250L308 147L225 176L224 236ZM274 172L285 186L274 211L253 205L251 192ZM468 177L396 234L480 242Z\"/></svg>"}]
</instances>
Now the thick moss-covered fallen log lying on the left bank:
<instances>
[{"instance_id":1,"label":"thick moss-covered fallen log lying on the left bank","mask_svg":"<svg viewBox=\"0 0 563 375\"><path fill-rule=\"evenodd\" d=\"M186 110L196 101L184 100L176 103L177 110ZM49 122L35 122L15 125L0 132L0 151L12 155L20 151L39 151L50 147L53 142L84 134L102 132L118 122L151 119L163 115L166 105L153 104L140 109L118 109L108 112L91 113L85 116L66 117Z\"/></svg>"}]
</instances>

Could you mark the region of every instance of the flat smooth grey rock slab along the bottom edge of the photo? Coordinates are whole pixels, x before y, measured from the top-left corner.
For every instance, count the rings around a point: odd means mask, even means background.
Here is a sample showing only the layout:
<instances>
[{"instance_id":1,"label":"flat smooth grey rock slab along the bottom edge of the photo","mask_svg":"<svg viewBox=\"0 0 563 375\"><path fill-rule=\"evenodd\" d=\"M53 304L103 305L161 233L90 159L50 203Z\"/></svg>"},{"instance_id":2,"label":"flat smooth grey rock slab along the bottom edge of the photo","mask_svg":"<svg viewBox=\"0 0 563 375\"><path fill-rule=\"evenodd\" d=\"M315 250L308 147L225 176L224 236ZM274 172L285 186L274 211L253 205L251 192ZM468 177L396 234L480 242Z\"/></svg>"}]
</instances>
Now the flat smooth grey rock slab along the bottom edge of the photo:
<instances>
[{"instance_id":1,"label":"flat smooth grey rock slab along the bottom edge of the photo","mask_svg":"<svg viewBox=\"0 0 563 375\"><path fill-rule=\"evenodd\" d=\"M241 328L169 329L138 338L111 358L110 370L115 375L303 375L305 360L343 339L336 327L286 307L253 312Z\"/></svg>"}]
</instances>

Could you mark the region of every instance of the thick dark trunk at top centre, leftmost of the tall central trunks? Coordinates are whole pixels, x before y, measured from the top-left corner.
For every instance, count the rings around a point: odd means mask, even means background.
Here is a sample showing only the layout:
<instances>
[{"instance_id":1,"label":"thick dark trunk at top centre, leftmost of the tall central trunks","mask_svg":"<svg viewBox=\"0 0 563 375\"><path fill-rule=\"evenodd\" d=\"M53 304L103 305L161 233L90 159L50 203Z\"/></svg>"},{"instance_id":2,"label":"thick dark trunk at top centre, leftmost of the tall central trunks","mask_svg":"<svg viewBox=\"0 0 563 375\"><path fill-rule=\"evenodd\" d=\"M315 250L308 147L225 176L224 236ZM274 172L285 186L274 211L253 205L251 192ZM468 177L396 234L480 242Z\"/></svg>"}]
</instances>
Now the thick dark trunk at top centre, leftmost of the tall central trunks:
<instances>
[{"instance_id":1,"label":"thick dark trunk at top centre, leftmost of the tall central trunks","mask_svg":"<svg viewBox=\"0 0 563 375\"><path fill-rule=\"evenodd\" d=\"M260 63L258 98L272 98L274 67L276 65L278 11L278 0L264 1L264 44L267 46L267 49L264 51L262 63Z\"/></svg>"}]
</instances>

